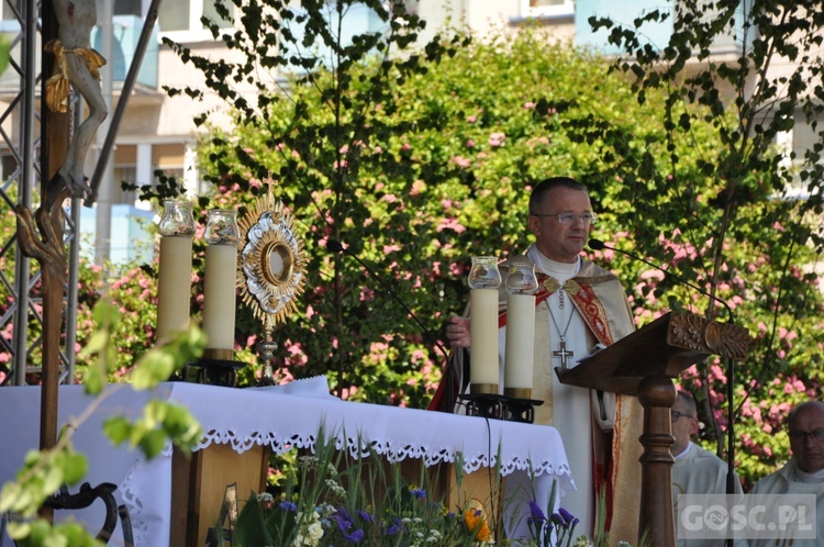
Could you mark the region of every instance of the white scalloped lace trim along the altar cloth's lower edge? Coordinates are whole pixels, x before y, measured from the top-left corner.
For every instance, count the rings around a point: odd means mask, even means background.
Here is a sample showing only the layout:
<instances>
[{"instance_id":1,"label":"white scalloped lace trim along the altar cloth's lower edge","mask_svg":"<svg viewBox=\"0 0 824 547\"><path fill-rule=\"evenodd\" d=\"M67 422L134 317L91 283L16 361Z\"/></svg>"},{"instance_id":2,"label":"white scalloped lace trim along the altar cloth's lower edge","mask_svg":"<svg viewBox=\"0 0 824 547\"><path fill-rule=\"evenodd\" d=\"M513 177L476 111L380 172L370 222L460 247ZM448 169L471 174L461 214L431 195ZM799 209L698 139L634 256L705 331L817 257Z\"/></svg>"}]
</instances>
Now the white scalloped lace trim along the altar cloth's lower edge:
<instances>
[{"instance_id":1,"label":"white scalloped lace trim along the altar cloth's lower edge","mask_svg":"<svg viewBox=\"0 0 824 547\"><path fill-rule=\"evenodd\" d=\"M271 433L250 435L236 435L232 431L211 429L205 433L197 449L201 450L211 444L227 444L242 454L254 446L268 446L275 454L283 454L292 448L304 448L314 451L318 442L316 434L293 434L288 438ZM432 449L426 446L403 445L394 446L390 440L365 442L358 436L335 435L335 449L344 450L355 459L367 458L377 454L396 464L404 459L421 459L426 467L437 464L455 464L457 453L447 449ZM494 448L494 447L493 447ZM471 473L480 468L492 468L498 464L497 453L492 454L463 454L464 472ZM552 461L532 461L530 458L509 457L501 461L501 476L505 477L514 471L527 471L531 477L541 475L566 476L571 482L571 472L568 465L555 465Z\"/></svg>"}]
</instances>

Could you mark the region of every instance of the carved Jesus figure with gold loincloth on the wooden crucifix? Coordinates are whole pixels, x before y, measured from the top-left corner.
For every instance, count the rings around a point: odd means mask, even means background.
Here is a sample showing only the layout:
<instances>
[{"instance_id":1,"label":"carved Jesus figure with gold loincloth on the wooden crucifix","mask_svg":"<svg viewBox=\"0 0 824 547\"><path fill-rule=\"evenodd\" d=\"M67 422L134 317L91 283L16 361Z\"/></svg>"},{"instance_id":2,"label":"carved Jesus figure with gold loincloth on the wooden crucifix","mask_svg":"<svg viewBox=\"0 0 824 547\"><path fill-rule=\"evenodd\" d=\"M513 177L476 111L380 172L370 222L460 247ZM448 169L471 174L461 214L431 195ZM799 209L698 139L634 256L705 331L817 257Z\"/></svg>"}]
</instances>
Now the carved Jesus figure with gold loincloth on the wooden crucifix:
<instances>
[{"instance_id":1,"label":"carved Jesus figure with gold loincloth on the wooden crucifix","mask_svg":"<svg viewBox=\"0 0 824 547\"><path fill-rule=\"evenodd\" d=\"M89 198L91 188L83 175L86 153L109 114L99 71L105 59L91 48L90 42L97 23L97 5L96 0L52 0L52 5L59 29L58 38L45 47L55 56L55 70L46 85L46 103L52 111L67 112L70 83L89 105L89 115L73 135L58 174L71 196Z\"/></svg>"}]
</instances>

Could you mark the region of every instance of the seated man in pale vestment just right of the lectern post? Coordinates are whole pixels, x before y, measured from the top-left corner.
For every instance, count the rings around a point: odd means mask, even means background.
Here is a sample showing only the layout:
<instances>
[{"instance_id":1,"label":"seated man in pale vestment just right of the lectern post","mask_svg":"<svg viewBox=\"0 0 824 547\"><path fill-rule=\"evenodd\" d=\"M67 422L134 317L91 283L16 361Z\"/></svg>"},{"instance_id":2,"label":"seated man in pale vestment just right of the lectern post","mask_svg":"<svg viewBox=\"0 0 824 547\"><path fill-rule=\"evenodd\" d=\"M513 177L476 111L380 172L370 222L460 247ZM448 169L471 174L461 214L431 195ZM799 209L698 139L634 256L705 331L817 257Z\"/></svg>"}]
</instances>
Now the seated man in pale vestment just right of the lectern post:
<instances>
[{"instance_id":1,"label":"seated man in pale vestment just right of the lectern post","mask_svg":"<svg viewBox=\"0 0 824 547\"><path fill-rule=\"evenodd\" d=\"M679 391L672 405L672 436L676 438L670 451L676 458L672 466L672 499L676 522L678 521L679 494L725 494L727 465L715 454L704 450L690 440L698 434L698 409L695 400L686 391ZM734 491L742 493L738 477L734 480ZM676 526L678 529L678 526ZM676 538L678 547L724 547L724 539L682 539ZM736 540L736 547L746 546L746 542Z\"/></svg>"}]
</instances>

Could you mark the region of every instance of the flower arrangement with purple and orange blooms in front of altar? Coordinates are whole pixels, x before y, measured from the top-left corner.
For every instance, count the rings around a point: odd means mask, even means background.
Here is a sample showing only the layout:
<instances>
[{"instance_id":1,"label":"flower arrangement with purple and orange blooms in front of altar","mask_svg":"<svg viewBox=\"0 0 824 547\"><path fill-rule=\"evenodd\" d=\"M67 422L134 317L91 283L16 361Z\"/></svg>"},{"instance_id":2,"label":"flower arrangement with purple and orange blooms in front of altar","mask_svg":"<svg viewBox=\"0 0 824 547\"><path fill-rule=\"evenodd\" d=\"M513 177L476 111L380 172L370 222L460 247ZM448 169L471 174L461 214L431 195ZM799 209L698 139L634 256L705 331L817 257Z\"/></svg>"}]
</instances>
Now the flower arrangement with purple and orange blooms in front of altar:
<instances>
[{"instance_id":1,"label":"flower arrangement with purple and orange blooms in front of altar","mask_svg":"<svg viewBox=\"0 0 824 547\"><path fill-rule=\"evenodd\" d=\"M277 495L253 494L232 532L235 547L460 547L494 545L482 504L470 501L452 511L427 488L409 484L399 466L389 472L379 458L344 457L319 434L316 453L301 456ZM224 545L222 526L209 545Z\"/></svg>"}]
</instances>

